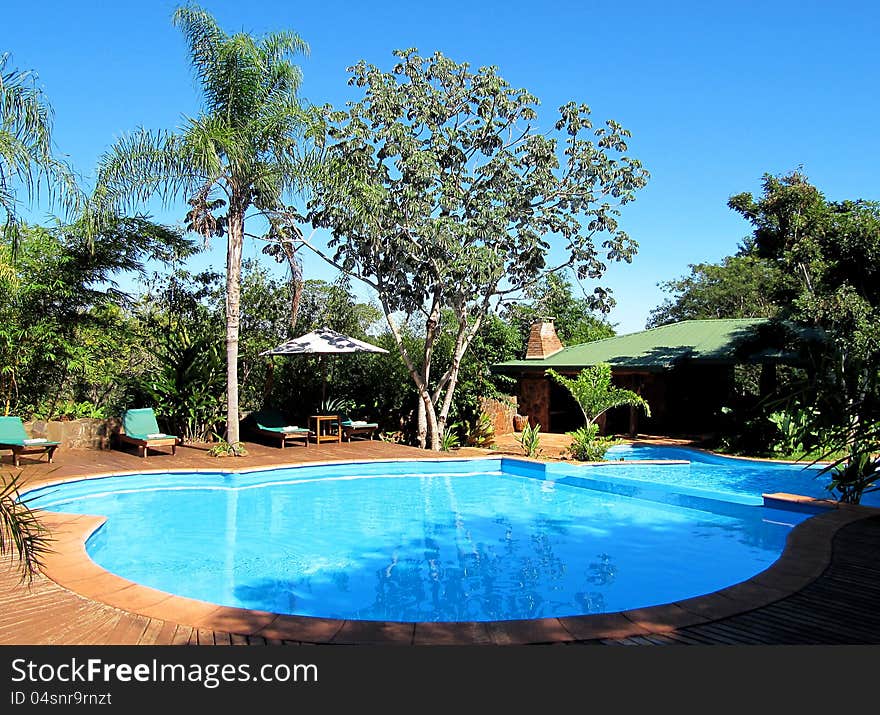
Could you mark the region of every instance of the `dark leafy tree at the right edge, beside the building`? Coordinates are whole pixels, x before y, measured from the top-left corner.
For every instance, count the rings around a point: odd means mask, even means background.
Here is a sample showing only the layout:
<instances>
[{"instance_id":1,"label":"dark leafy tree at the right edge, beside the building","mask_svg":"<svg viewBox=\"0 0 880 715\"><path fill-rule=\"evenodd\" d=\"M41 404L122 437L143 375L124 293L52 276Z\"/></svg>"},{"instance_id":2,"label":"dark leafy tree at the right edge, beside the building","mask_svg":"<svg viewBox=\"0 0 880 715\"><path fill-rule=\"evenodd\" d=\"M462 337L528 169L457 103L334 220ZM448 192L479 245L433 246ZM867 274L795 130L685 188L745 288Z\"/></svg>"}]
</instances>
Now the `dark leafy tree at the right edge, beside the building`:
<instances>
[{"instance_id":1,"label":"dark leafy tree at the right edge, beside the building","mask_svg":"<svg viewBox=\"0 0 880 715\"><path fill-rule=\"evenodd\" d=\"M853 465L840 484L855 474L864 489L877 473L862 457L880 448L880 203L829 201L800 172L765 175L762 189L729 205L752 224L755 254L795 281L782 316L826 338L816 379L821 414L832 422L828 449ZM856 501L860 494L845 492Z\"/></svg>"}]
</instances>

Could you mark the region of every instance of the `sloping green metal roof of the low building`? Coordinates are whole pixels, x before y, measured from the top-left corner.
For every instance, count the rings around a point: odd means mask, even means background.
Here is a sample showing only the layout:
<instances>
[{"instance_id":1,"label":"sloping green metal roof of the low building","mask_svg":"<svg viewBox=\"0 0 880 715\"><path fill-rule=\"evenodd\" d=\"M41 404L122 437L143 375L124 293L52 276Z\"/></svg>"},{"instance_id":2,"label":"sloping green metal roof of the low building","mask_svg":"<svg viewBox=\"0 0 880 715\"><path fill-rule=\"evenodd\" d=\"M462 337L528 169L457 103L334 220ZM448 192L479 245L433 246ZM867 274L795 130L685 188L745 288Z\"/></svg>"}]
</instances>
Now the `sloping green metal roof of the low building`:
<instances>
[{"instance_id":1,"label":"sloping green metal roof of the low building","mask_svg":"<svg viewBox=\"0 0 880 715\"><path fill-rule=\"evenodd\" d=\"M543 360L508 360L493 367L499 372L522 369L575 369L607 362L618 369L665 370L681 360L731 364L744 362L742 343L756 336L766 318L685 320L628 335L572 345ZM762 356L779 359L781 356Z\"/></svg>"}]
</instances>

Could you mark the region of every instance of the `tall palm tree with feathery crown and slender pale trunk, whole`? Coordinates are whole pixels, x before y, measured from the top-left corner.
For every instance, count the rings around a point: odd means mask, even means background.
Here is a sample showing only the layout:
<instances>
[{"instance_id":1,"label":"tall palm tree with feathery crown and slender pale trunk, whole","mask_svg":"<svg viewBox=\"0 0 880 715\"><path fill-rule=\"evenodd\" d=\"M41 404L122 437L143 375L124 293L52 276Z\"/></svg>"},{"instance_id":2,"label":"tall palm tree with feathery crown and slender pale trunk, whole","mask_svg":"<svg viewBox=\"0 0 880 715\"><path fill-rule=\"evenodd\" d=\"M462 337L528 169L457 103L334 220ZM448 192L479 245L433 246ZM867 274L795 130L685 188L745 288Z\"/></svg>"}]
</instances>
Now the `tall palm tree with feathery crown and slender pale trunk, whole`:
<instances>
[{"instance_id":1,"label":"tall palm tree with feathery crown and slender pale trunk, whole","mask_svg":"<svg viewBox=\"0 0 880 715\"><path fill-rule=\"evenodd\" d=\"M267 237L285 229L282 197L304 175L300 140L311 116L297 99L302 73L289 58L308 45L292 32L228 35L196 6L179 7L173 24L186 38L203 112L175 131L119 139L101 159L92 211L100 222L156 195L166 204L184 197L188 229L206 242L226 236L227 441L235 445L245 219L255 209L269 221Z\"/></svg>"}]
</instances>

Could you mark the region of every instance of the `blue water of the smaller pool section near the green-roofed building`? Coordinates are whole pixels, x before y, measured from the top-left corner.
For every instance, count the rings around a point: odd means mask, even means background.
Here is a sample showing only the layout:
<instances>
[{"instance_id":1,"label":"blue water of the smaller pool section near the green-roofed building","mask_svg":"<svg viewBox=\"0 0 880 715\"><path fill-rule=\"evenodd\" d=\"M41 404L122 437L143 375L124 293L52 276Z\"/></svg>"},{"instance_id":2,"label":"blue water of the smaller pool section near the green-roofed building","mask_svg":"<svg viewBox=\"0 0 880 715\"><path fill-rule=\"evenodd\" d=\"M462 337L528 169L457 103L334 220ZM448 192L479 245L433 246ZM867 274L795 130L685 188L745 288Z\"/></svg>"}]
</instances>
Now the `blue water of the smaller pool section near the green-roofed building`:
<instances>
[{"instance_id":1,"label":"blue water of the smaller pool section near the green-roofed building","mask_svg":"<svg viewBox=\"0 0 880 715\"><path fill-rule=\"evenodd\" d=\"M633 465L625 476L667 485L679 485L714 491L746 494L788 492L821 499L834 498L825 487L828 476L821 467L806 464L784 464L760 460L735 459L687 447L653 445L618 445L605 454L609 460L663 459L686 460L687 465ZM604 469L604 468L603 468ZM616 472L621 476L624 472ZM869 492L862 503L880 506L880 492Z\"/></svg>"}]
</instances>

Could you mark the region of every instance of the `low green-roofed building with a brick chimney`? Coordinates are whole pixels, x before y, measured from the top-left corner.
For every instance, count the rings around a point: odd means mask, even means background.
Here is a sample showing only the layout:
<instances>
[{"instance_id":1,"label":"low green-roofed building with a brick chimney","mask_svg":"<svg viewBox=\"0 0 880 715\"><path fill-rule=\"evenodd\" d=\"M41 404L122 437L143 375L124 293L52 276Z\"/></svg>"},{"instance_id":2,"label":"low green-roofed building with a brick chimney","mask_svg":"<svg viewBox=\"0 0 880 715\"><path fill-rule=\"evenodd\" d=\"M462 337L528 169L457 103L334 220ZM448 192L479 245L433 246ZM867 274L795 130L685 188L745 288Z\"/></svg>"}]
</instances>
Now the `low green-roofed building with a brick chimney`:
<instances>
[{"instance_id":1,"label":"low green-roofed building with a brick chimney","mask_svg":"<svg viewBox=\"0 0 880 715\"><path fill-rule=\"evenodd\" d=\"M791 328L766 318L685 320L659 328L563 347L551 319L532 326L523 360L493 366L515 376L519 412L548 432L564 432L583 422L568 392L545 371L576 374L598 363L611 365L614 381L635 390L651 406L651 417L621 408L608 417L606 432L640 430L654 434L713 431L721 408L735 398L737 365L760 365L761 392L775 385L776 365L796 364L799 354L785 349Z\"/></svg>"}]
</instances>

